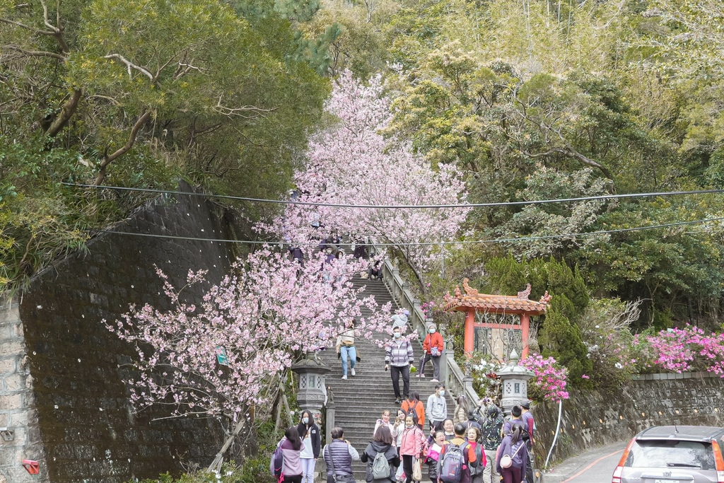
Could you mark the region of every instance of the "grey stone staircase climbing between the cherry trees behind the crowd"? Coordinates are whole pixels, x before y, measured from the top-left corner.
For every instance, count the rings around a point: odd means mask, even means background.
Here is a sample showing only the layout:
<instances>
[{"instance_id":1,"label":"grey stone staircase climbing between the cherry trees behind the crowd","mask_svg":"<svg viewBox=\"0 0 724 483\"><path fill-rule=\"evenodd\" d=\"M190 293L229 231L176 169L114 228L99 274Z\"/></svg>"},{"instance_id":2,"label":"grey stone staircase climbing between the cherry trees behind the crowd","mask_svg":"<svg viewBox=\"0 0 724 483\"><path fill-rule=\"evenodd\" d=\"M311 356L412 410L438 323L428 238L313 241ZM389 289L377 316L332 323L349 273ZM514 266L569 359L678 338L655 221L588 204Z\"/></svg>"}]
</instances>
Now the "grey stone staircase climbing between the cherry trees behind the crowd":
<instances>
[{"instance_id":1,"label":"grey stone staircase climbing between the cherry trees behind the crowd","mask_svg":"<svg viewBox=\"0 0 724 483\"><path fill-rule=\"evenodd\" d=\"M363 280L360 277L355 277L353 283L355 287L364 286L364 296L374 295L380 306L392 302L393 311L396 308L395 301L392 300L387 285L384 285L381 280ZM369 316L368 309L364 309L363 316ZM392 327L392 322L390 322L390 327ZM374 337L378 340L386 340L390 338L390 335L378 333ZM324 350L321 353L321 359L324 364L332 369L327 374L327 387L331 388L334 398L334 424L345 430L345 438L361 454L372 440L375 422L381 416L382 411L389 409L394 421L396 411L400 405L395 404L395 392L392 390L390 371L384 370L384 348L379 348L371 340L361 337L355 340L355 348L361 361L355 366L355 377L352 377L348 370L347 380L342 379L342 363L337 359L334 347ZM418 361L422 355L421 343L414 343L414 351L415 366L419 370ZM432 379L432 364L427 364L424 379L416 377L417 374L411 374L410 390L419 392L420 400L426 405L428 396L435 390L435 383L430 382ZM400 380L400 392L402 392L402 380ZM449 396L446 397L448 415L452 417L455 402L450 400ZM324 432L323 429L322 434ZM427 434L427 424L425 432ZM357 482L364 482L365 466L363 463L355 461L353 468ZM324 463L320 461L317 469L318 471L324 471ZM426 477L425 465L423 465L423 474Z\"/></svg>"}]
</instances>

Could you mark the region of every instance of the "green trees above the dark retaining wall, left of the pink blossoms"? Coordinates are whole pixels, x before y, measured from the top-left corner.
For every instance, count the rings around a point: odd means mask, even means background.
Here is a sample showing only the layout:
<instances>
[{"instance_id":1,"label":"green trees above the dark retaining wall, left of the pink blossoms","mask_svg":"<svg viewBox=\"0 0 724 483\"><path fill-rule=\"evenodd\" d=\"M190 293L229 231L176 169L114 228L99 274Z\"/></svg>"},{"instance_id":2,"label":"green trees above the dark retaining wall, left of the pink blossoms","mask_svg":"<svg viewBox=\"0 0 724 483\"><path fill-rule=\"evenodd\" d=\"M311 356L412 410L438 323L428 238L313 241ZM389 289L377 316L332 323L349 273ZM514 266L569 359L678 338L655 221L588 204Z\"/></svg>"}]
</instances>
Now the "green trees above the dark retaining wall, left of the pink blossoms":
<instances>
[{"instance_id":1,"label":"green trees above the dark retaining wall, left of the pink blossoms","mask_svg":"<svg viewBox=\"0 0 724 483\"><path fill-rule=\"evenodd\" d=\"M290 188L329 92L315 69L326 70L331 40L301 53L299 22L319 9L315 0L235 7L70 0L49 4L45 17L37 2L1 4L3 283L82 248L88 228L146 199L62 181L168 188L183 177L258 198Z\"/></svg>"}]
</instances>

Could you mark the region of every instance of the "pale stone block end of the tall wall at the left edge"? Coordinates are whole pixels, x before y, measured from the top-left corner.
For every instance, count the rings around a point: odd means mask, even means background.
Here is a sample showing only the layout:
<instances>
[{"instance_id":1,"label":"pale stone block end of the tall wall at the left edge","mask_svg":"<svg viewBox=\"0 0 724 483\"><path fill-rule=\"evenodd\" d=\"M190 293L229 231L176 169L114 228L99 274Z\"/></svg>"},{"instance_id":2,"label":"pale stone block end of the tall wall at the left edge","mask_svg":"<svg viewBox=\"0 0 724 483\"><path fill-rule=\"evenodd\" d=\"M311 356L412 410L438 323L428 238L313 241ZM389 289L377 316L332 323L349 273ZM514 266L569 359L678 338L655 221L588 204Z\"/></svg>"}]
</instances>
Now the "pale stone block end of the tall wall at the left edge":
<instances>
[{"instance_id":1,"label":"pale stone block end of the tall wall at the left edge","mask_svg":"<svg viewBox=\"0 0 724 483\"><path fill-rule=\"evenodd\" d=\"M17 299L0 298L0 483L48 482L31 476L23 460L43 461L32 377Z\"/></svg>"}]
</instances>

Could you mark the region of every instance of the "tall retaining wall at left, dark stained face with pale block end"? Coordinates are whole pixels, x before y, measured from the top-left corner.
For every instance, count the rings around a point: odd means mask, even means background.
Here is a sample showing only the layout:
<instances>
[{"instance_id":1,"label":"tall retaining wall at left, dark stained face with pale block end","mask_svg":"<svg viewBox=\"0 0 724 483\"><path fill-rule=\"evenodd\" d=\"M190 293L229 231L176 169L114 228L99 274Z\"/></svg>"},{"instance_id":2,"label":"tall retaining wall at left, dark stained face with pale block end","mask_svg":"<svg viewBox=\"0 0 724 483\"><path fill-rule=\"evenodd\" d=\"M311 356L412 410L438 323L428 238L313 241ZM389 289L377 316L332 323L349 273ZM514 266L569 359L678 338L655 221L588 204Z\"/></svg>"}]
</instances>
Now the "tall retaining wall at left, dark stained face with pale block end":
<instances>
[{"instance_id":1,"label":"tall retaining wall at left, dark stained face with pale block end","mask_svg":"<svg viewBox=\"0 0 724 483\"><path fill-rule=\"evenodd\" d=\"M203 198L158 198L86 253L38 274L20 305L4 308L0 421L14 425L16 439L0 442L0 483L25 483L21 457L41 461L41 475L27 481L51 483L123 483L211 462L223 442L219 422L163 419L163 408L136 412L123 382L135 351L102 320L114 322L131 303L169 307L154 265L175 287L189 269L208 269L209 283L230 269L231 243L118 232L222 239L227 228Z\"/></svg>"}]
</instances>

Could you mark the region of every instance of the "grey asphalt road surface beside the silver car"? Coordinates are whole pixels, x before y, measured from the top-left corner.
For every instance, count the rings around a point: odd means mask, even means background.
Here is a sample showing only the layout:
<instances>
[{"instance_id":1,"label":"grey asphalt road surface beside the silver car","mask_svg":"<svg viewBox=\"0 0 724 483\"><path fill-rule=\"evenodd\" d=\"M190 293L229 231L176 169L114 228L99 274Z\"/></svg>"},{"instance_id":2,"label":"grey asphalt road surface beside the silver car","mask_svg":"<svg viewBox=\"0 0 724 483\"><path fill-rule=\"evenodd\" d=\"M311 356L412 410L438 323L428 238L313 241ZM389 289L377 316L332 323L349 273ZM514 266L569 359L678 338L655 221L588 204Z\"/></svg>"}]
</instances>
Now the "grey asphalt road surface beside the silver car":
<instances>
[{"instance_id":1,"label":"grey asphalt road surface beside the silver car","mask_svg":"<svg viewBox=\"0 0 724 483\"><path fill-rule=\"evenodd\" d=\"M568 458L544 474L544 483L611 483L613 470L621 458L626 442Z\"/></svg>"}]
</instances>

